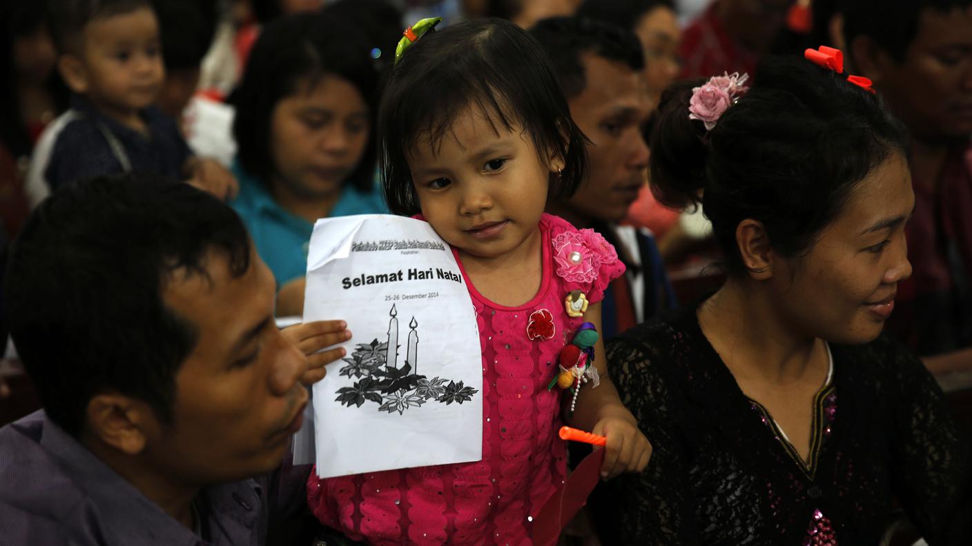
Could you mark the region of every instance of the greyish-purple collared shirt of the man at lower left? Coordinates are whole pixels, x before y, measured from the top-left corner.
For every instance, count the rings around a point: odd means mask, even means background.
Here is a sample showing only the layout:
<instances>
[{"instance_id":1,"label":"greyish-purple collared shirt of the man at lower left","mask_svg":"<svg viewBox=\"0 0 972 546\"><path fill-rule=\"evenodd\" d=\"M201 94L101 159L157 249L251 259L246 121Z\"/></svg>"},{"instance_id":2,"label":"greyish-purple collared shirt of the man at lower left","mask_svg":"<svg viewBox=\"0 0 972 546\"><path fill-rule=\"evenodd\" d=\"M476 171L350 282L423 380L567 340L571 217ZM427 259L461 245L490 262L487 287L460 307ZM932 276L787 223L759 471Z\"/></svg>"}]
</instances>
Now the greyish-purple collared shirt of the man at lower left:
<instances>
[{"instance_id":1,"label":"greyish-purple collared shirt of the man at lower left","mask_svg":"<svg viewBox=\"0 0 972 546\"><path fill-rule=\"evenodd\" d=\"M271 518L305 506L309 466L205 488L204 541L54 425L44 411L0 428L4 544L257 546ZM282 479L282 474L286 477Z\"/></svg>"}]
</instances>

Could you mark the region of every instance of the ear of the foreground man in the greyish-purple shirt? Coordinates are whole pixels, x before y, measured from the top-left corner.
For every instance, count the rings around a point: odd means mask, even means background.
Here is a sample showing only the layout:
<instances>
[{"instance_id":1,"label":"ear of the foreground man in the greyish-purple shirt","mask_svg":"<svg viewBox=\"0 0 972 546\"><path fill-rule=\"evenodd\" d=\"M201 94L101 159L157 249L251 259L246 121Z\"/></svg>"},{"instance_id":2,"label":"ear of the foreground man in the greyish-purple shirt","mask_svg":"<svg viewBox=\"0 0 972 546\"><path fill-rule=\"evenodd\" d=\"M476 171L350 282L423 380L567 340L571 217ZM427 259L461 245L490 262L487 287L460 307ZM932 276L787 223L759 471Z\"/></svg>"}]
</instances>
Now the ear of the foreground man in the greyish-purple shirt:
<instances>
[{"instance_id":1,"label":"ear of the foreground man in the greyish-purple shirt","mask_svg":"<svg viewBox=\"0 0 972 546\"><path fill-rule=\"evenodd\" d=\"M104 393L87 402L87 433L126 455L145 449L147 432L155 425L155 412L137 398Z\"/></svg>"}]
</instances>

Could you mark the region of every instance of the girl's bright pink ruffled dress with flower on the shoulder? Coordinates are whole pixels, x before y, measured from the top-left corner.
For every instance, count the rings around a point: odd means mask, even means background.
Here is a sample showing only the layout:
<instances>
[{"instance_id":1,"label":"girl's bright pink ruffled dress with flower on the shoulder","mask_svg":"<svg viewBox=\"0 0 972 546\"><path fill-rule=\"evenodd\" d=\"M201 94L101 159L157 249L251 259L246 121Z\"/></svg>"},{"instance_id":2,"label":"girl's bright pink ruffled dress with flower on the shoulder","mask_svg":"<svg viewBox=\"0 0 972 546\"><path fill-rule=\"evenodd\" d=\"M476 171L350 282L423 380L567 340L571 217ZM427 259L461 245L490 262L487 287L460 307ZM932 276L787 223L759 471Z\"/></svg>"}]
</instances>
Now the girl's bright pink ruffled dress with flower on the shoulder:
<instances>
[{"instance_id":1,"label":"girl's bright pink ruffled dress with flower on the shoulder","mask_svg":"<svg viewBox=\"0 0 972 546\"><path fill-rule=\"evenodd\" d=\"M483 351L482 461L327 480L312 472L307 502L324 525L378 546L531 544L533 517L567 471L557 437L562 391L547 390L561 349L584 322L568 316L565 299L580 290L590 303L601 301L624 273L613 247L593 230L546 214L539 227L543 279L529 302L493 303L463 269Z\"/></svg>"}]
</instances>

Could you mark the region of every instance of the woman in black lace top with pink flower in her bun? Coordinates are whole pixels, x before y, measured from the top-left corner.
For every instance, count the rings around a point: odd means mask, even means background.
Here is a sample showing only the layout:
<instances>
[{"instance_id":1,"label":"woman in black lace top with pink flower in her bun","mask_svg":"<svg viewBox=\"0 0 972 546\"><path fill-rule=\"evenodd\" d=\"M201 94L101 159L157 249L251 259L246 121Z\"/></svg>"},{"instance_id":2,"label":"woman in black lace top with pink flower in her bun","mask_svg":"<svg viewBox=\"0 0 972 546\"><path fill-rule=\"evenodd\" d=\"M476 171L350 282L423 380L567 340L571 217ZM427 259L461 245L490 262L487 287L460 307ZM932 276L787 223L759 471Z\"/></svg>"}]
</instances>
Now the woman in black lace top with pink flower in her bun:
<instances>
[{"instance_id":1,"label":"woman in black lace top with pink flower in her bun","mask_svg":"<svg viewBox=\"0 0 972 546\"><path fill-rule=\"evenodd\" d=\"M901 129L866 82L808 60L741 84L663 97L653 190L701 204L728 275L608 345L654 454L591 502L604 542L877 545L897 505L931 546L970 545L969 444L880 335L911 274Z\"/></svg>"}]
</instances>

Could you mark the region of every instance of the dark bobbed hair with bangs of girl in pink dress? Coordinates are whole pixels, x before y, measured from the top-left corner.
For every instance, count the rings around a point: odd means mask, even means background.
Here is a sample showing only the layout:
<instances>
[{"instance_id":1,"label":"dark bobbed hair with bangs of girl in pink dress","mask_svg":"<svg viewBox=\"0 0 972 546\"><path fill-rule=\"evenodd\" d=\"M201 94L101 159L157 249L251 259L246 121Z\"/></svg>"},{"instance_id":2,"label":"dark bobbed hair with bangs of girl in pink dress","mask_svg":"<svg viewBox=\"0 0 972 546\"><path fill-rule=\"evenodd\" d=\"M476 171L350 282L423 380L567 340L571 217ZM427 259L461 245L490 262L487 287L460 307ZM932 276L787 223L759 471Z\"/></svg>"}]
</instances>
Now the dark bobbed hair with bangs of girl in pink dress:
<instances>
[{"instance_id":1,"label":"dark bobbed hair with bangs of girl in pink dress","mask_svg":"<svg viewBox=\"0 0 972 546\"><path fill-rule=\"evenodd\" d=\"M572 195L584 180L586 138L543 48L507 20L470 20L423 36L390 74L378 133L385 200L393 213L419 212L408 155L426 139L436 148L470 107L498 130L525 131L541 161L563 157L561 176L551 177L552 198Z\"/></svg>"}]
</instances>

